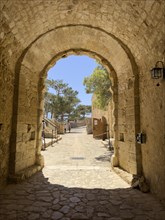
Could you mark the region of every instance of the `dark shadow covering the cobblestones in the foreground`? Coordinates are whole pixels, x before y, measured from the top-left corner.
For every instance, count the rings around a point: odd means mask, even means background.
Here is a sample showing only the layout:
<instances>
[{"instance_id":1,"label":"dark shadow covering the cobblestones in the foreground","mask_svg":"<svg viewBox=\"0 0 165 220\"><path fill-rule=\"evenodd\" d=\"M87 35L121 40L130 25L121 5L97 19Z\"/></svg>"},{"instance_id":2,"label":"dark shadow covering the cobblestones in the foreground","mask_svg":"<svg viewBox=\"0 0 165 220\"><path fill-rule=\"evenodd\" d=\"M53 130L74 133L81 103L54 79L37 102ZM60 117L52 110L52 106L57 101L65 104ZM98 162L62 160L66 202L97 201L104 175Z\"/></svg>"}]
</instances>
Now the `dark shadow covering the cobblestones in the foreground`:
<instances>
[{"instance_id":1,"label":"dark shadow covering the cobblestones in the foreground","mask_svg":"<svg viewBox=\"0 0 165 220\"><path fill-rule=\"evenodd\" d=\"M42 172L0 191L2 220L164 220L165 209L150 194L125 189L68 188Z\"/></svg>"}]
</instances>

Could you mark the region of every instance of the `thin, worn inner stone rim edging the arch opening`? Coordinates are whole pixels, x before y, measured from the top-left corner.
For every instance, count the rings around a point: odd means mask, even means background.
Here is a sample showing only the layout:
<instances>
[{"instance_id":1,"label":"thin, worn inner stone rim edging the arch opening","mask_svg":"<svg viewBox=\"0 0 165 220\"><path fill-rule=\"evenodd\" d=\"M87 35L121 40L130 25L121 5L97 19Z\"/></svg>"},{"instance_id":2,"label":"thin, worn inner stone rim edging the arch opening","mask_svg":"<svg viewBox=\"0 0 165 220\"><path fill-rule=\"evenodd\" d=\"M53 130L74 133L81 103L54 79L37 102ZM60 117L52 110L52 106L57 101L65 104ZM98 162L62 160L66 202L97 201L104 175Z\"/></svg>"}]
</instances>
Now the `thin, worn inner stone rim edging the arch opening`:
<instances>
[{"instance_id":1,"label":"thin, worn inner stone rim edging the arch opening","mask_svg":"<svg viewBox=\"0 0 165 220\"><path fill-rule=\"evenodd\" d=\"M43 112L43 99L44 99L44 92L45 92L45 80L47 77L47 72L48 70L55 65L55 63L62 59L63 57L68 57L70 55L86 55L90 58L93 58L95 60L97 60L102 66L104 66L107 70L107 72L109 73L109 78L112 82L112 86L110 88L111 93L112 93L112 121L113 123L111 124L111 134L113 134L113 138L115 139L115 136L117 136L117 106L115 107L115 105L117 104L117 76L116 76L116 72L114 70L114 68L112 67L112 65L109 63L108 60L106 60L104 57L100 56L99 54L92 52L92 51L88 51L86 49L70 49L68 51L63 51L60 54L56 54L44 67L44 69L40 72L40 80L38 83L38 94L39 94L39 109L40 112ZM116 111L115 111L116 109ZM39 121L38 121L38 129L39 129L39 136L38 136L38 146L41 146L41 142L40 142L40 136L41 136L41 130L42 130L42 119L43 119L43 114L40 114L39 117ZM40 143L40 144L39 144ZM117 143L115 142L115 146L117 145ZM117 155L117 151L116 151L117 147L115 147L115 154ZM39 147L40 150L40 147Z\"/></svg>"}]
</instances>

